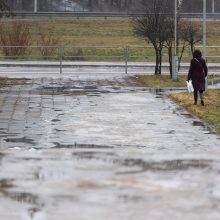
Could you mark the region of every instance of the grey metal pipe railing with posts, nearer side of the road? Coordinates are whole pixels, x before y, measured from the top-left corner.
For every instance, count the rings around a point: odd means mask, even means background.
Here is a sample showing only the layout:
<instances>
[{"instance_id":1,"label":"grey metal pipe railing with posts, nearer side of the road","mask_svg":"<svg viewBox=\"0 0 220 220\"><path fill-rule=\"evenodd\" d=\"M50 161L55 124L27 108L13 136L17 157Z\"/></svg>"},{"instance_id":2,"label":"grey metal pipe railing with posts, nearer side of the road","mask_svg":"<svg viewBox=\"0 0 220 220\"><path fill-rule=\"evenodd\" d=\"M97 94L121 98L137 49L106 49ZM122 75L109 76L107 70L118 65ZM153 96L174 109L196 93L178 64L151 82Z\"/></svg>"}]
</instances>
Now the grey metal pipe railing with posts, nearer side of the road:
<instances>
[{"instance_id":1,"label":"grey metal pipe railing with posts, nearer side of the road","mask_svg":"<svg viewBox=\"0 0 220 220\"><path fill-rule=\"evenodd\" d=\"M197 46L202 50L202 46ZM179 51L181 48L179 48ZM207 46L206 59L209 63L220 63L220 46ZM168 69L168 53L163 50L163 65ZM183 52L182 63L189 63L191 51ZM140 66L140 63L155 63L153 46L0 46L1 61L56 61L60 73L67 62L71 65L83 65L85 62L106 62L108 66L120 66L128 73L128 68ZM42 66L43 66L42 62ZM47 62L48 65L48 62Z\"/></svg>"}]
</instances>

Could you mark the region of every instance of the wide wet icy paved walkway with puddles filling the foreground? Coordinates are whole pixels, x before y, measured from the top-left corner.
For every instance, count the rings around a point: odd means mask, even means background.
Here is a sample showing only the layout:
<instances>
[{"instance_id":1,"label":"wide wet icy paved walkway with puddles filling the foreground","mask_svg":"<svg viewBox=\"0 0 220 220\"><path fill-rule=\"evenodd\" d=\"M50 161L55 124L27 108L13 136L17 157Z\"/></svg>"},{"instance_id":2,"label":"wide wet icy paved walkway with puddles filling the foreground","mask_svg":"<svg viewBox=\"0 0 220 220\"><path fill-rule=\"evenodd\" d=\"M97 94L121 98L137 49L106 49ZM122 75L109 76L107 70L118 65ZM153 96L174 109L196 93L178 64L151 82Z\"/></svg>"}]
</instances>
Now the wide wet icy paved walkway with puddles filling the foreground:
<instances>
[{"instance_id":1,"label":"wide wet icy paved walkway with puddles filling the foreground","mask_svg":"<svg viewBox=\"0 0 220 220\"><path fill-rule=\"evenodd\" d=\"M0 219L220 219L220 138L132 80L0 91Z\"/></svg>"}]
</instances>

